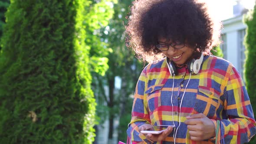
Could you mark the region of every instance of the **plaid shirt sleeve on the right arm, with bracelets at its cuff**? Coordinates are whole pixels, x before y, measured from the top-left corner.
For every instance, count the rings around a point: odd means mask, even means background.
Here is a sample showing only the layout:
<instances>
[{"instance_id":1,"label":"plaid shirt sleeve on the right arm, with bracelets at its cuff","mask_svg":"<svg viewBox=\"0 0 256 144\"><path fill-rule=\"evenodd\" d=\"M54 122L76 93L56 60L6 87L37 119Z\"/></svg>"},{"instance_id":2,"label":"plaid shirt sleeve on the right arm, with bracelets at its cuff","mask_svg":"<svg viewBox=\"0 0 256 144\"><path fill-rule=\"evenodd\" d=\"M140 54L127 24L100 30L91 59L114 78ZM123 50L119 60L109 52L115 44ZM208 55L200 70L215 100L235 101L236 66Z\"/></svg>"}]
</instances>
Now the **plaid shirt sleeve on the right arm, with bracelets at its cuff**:
<instances>
[{"instance_id":1,"label":"plaid shirt sleeve on the right arm, with bracelets at its cuff","mask_svg":"<svg viewBox=\"0 0 256 144\"><path fill-rule=\"evenodd\" d=\"M243 80L233 66L227 79L223 115L228 119L220 123L222 143L243 144L256 133L253 109Z\"/></svg>"}]
</instances>

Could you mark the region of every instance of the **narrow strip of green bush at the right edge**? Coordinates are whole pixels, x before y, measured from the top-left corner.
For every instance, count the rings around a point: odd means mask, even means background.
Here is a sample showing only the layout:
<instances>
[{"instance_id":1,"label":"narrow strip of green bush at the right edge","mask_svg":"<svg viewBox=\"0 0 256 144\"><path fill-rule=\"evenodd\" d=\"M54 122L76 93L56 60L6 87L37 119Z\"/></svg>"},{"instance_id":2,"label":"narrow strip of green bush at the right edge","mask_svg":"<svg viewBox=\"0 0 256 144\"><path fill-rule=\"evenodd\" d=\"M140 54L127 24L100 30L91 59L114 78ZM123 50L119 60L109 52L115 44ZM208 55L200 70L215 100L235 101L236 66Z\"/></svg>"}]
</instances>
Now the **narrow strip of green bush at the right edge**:
<instances>
[{"instance_id":1,"label":"narrow strip of green bush at the right edge","mask_svg":"<svg viewBox=\"0 0 256 144\"><path fill-rule=\"evenodd\" d=\"M256 6L254 10L250 11L244 16L244 22L247 25L246 36L245 36L245 47L246 47L246 60L245 60L245 81L246 89L250 97L250 101L253 107L253 111L256 111L256 69L255 69L255 58L256 58ZM254 115L255 117L255 115ZM250 144L256 143L256 137L249 142Z\"/></svg>"}]
</instances>

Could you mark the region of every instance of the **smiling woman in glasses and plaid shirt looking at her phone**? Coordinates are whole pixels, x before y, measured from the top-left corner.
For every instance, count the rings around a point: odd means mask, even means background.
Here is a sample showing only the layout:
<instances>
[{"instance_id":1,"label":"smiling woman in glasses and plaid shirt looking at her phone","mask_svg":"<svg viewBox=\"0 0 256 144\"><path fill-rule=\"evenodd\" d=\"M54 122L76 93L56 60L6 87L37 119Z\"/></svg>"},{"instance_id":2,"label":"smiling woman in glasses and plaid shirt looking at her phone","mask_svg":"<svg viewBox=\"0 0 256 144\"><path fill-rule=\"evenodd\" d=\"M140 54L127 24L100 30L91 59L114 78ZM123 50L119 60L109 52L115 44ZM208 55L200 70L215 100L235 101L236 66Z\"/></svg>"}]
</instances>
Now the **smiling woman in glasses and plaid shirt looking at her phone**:
<instances>
[{"instance_id":1,"label":"smiling woman in glasses and plaid shirt looking at her phone","mask_svg":"<svg viewBox=\"0 0 256 144\"><path fill-rule=\"evenodd\" d=\"M128 42L150 63L135 89L127 130L132 144L243 144L255 135L243 80L230 62L210 54L220 27L208 12L198 0L133 3ZM158 125L169 127L142 133Z\"/></svg>"}]
</instances>

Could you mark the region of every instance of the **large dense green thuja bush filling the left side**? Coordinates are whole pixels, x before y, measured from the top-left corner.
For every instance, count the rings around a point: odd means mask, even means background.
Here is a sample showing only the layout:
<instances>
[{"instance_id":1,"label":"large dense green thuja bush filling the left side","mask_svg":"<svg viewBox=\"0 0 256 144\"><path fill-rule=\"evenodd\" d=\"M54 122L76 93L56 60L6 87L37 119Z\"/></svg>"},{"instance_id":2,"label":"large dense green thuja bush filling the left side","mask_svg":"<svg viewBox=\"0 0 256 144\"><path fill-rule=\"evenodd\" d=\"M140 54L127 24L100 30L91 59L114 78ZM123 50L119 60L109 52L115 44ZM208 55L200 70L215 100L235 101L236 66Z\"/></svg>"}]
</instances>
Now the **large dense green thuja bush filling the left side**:
<instances>
[{"instance_id":1,"label":"large dense green thuja bush filling the left side","mask_svg":"<svg viewBox=\"0 0 256 144\"><path fill-rule=\"evenodd\" d=\"M11 0L0 53L0 144L89 144L86 0Z\"/></svg>"}]
</instances>

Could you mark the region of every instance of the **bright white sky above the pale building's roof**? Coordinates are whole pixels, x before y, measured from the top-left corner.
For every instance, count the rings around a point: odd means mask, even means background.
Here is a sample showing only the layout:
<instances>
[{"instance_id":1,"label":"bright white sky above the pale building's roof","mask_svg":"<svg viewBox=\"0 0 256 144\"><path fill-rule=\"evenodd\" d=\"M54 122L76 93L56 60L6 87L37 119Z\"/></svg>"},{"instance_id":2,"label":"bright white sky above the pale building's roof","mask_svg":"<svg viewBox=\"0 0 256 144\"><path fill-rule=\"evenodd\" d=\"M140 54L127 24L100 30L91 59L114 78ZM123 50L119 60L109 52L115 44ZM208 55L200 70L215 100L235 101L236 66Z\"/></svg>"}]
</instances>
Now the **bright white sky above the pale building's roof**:
<instances>
[{"instance_id":1,"label":"bright white sky above the pale building's roof","mask_svg":"<svg viewBox=\"0 0 256 144\"><path fill-rule=\"evenodd\" d=\"M219 20L226 20L233 16L233 5L236 4L236 0L207 0L207 3ZM253 9L255 0L241 0L241 3L247 9Z\"/></svg>"}]
</instances>

